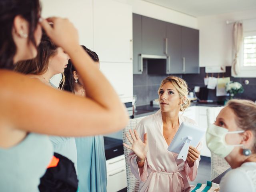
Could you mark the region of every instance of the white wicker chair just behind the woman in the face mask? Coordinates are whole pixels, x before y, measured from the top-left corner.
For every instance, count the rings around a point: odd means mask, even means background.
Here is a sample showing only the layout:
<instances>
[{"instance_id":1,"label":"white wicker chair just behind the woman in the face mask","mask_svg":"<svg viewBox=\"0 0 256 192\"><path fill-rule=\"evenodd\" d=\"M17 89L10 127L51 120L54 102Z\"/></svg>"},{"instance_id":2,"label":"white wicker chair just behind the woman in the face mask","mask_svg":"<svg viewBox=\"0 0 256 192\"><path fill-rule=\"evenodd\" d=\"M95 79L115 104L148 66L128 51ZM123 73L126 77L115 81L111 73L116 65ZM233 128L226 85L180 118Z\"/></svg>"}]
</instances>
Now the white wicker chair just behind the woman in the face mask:
<instances>
[{"instance_id":1,"label":"white wicker chair just behind the woman in the face mask","mask_svg":"<svg viewBox=\"0 0 256 192\"><path fill-rule=\"evenodd\" d=\"M208 126L209 124L214 123L222 108L223 107L210 107L207 109ZM226 171L228 168L230 168L230 165L226 162L224 158L221 158L214 153L211 153L211 155L211 179L213 180L224 171Z\"/></svg>"}]
</instances>

